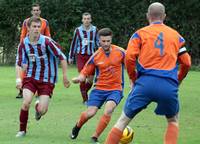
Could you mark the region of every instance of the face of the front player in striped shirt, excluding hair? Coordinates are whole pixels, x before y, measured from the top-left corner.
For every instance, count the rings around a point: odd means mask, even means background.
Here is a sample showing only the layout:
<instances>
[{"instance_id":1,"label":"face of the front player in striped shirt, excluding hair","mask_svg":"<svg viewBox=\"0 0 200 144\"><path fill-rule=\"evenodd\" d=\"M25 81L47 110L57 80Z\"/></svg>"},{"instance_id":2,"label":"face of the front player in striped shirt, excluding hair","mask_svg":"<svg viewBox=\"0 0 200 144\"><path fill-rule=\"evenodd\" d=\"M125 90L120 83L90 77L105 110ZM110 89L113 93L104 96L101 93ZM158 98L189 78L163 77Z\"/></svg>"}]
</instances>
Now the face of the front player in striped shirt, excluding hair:
<instances>
[{"instance_id":1,"label":"face of the front player in striped shirt, excluding hair","mask_svg":"<svg viewBox=\"0 0 200 144\"><path fill-rule=\"evenodd\" d=\"M29 35L33 37L37 37L40 35L40 28L41 23L40 22L32 22L29 27Z\"/></svg>"}]
</instances>

